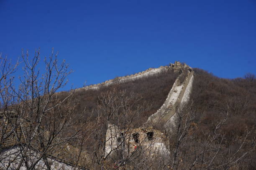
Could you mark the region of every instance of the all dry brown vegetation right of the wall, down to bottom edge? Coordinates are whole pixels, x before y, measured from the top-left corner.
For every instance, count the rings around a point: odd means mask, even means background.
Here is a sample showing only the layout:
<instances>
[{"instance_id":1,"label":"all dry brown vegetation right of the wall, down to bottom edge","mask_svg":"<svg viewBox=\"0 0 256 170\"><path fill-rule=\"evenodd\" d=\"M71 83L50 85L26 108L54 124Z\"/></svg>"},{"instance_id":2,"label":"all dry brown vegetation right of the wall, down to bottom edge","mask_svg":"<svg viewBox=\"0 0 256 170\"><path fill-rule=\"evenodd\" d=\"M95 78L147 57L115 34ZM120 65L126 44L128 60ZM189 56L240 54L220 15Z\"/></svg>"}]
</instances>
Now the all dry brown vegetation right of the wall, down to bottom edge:
<instances>
[{"instance_id":1,"label":"all dry brown vegetation right of the wall, down to bottom edge","mask_svg":"<svg viewBox=\"0 0 256 170\"><path fill-rule=\"evenodd\" d=\"M255 170L256 80L194 70L190 124L177 169ZM177 146L175 137L171 150Z\"/></svg>"}]
</instances>

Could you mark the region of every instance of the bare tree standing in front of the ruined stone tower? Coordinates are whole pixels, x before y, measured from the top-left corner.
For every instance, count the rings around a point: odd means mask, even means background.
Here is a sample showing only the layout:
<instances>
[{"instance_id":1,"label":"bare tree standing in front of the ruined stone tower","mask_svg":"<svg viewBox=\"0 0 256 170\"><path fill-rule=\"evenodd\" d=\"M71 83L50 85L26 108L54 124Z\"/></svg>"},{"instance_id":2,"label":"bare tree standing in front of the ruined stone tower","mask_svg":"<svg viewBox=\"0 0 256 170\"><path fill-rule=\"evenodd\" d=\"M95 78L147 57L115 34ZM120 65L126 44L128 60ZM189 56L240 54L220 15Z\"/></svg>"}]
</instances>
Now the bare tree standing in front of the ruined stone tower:
<instances>
[{"instance_id":1,"label":"bare tree standing in front of the ruined stone tower","mask_svg":"<svg viewBox=\"0 0 256 170\"><path fill-rule=\"evenodd\" d=\"M156 161L157 153L167 151L164 144L163 148L155 145L155 139L161 141L162 133L140 126L140 115L145 108L138 104L139 100L133 92L116 90L99 97L92 149L96 169L146 169Z\"/></svg>"}]
</instances>

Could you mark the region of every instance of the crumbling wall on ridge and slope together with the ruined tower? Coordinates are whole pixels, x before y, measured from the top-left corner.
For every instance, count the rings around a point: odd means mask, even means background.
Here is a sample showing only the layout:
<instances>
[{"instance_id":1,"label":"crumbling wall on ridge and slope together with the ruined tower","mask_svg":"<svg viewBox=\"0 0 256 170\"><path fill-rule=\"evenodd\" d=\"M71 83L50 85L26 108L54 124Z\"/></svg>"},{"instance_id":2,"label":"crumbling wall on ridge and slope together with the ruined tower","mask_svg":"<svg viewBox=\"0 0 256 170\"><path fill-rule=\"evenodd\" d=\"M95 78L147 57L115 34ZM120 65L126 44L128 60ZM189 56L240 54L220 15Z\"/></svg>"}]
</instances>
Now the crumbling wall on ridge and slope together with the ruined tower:
<instances>
[{"instance_id":1,"label":"crumbling wall on ridge and slope together with the ruined tower","mask_svg":"<svg viewBox=\"0 0 256 170\"><path fill-rule=\"evenodd\" d=\"M148 117L148 120L141 128L122 130L119 129L118 126L109 123L105 136L105 156L111 155L111 152L117 149L121 143L124 144L121 147L123 150L133 150L133 147L136 148L137 146L143 145L144 147L148 148L149 153L154 150L164 155L169 154L166 147L168 145L166 145L166 143L168 143L168 139L166 139L164 133L161 133L159 130L154 129L153 127L156 125L156 123L161 123L164 125L164 128L167 131L172 132L172 127L175 126L175 113L177 112L177 109L182 107L189 100L189 95L192 90L192 83L194 80L194 71L192 71L191 67L180 62L175 62L174 64L170 64L169 67L160 67L158 69L163 68L174 69L174 71L180 72L179 76L172 85L172 89L170 90L164 104L159 108L159 110L157 110L156 113ZM145 73L140 73L139 75L133 75L132 77L138 78L138 76L147 75L145 75ZM185 77L183 81L182 77ZM124 77L121 80L127 80L127 78ZM111 82L113 83L114 81ZM90 87L87 87L87 89L89 88ZM151 136L148 134L151 134ZM124 135L126 135L126 138L123 137ZM137 139L135 138L135 135ZM124 140L123 142L120 142L121 140L118 141L118 139ZM148 156L148 152L145 156Z\"/></svg>"}]
</instances>

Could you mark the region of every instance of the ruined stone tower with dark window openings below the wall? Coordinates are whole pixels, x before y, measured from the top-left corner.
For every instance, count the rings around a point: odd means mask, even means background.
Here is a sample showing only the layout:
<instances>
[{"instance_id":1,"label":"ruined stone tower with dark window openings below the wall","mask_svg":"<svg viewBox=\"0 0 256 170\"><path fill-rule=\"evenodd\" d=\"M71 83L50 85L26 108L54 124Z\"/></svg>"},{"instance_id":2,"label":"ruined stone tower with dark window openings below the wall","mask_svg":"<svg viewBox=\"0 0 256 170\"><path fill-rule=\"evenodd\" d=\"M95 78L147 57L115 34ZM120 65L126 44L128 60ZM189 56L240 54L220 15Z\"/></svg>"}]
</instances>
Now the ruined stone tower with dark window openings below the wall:
<instances>
[{"instance_id":1,"label":"ruined stone tower with dark window openings below the wall","mask_svg":"<svg viewBox=\"0 0 256 170\"><path fill-rule=\"evenodd\" d=\"M148 133L151 133L148 137ZM136 134L137 139L134 139ZM106 132L105 158L115 153L115 150L123 150L126 154L133 154L137 147L143 148L144 156L161 153L169 154L166 147L168 139L159 130L153 128L119 129L118 126L108 123Z\"/></svg>"}]
</instances>

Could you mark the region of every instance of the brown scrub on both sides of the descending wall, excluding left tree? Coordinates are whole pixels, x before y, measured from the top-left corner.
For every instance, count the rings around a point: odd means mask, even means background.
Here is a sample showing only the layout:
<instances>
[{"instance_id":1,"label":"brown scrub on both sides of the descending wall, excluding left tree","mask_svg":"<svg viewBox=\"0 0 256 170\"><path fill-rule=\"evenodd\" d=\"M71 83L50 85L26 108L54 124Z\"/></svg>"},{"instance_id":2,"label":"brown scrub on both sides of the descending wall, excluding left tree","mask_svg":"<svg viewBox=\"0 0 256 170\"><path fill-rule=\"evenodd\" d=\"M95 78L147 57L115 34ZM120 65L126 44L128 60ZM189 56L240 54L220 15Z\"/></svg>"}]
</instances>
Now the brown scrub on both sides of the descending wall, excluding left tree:
<instances>
[{"instance_id":1,"label":"brown scrub on both sides of the descending wall, excluding left tree","mask_svg":"<svg viewBox=\"0 0 256 170\"><path fill-rule=\"evenodd\" d=\"M201 69L194 69L194 71L195 80L189 108L182 110L179 114L180 122L177 122L177 124L180 123L179 133L169 135L171 153L169 162L164 163L161 162L162 158L157 158L155 162L141 164L140 160L143 158L138 157L133 160L137 164L130 163L129 166L177 170L256 169L256 80L254 75L248 74L245 78L231 80L218 78ZM87 107L85 117L93 113L91 122L97 126L91 136L93 140L87 142L86 148L93 154L98 153L105 145L107 119L101 112L104 105L102 101L109 97L108 94L115 93L117 98L113 101L120 104L122 102L120 94L126 91L127 96L133 96L129 98L129 103L126 103L128 106L131 104L143 106L140 115L131 119L126 117L133 121L126 126L136 128L143 125L148 116L161 107L176 77L177 74L169 70L156 76L101 87L100 90L83 90L74 94L77 116L84 107ZM65 96L65 92L62 92L62 95ZM136 108L135 105L130 111L136 112ZM95 123L99 115L101 120ZM115 123L116 120L108 121ZM186 124L186 121L189 124ZM177 140L182 135L184 135L182 140ZM100 147L95 148L95 144ZM97 155L94 159L96 162L102 160L98 163L99 167L105 166L105 158L102 156Z\"/></svg>"}]
</instances>

